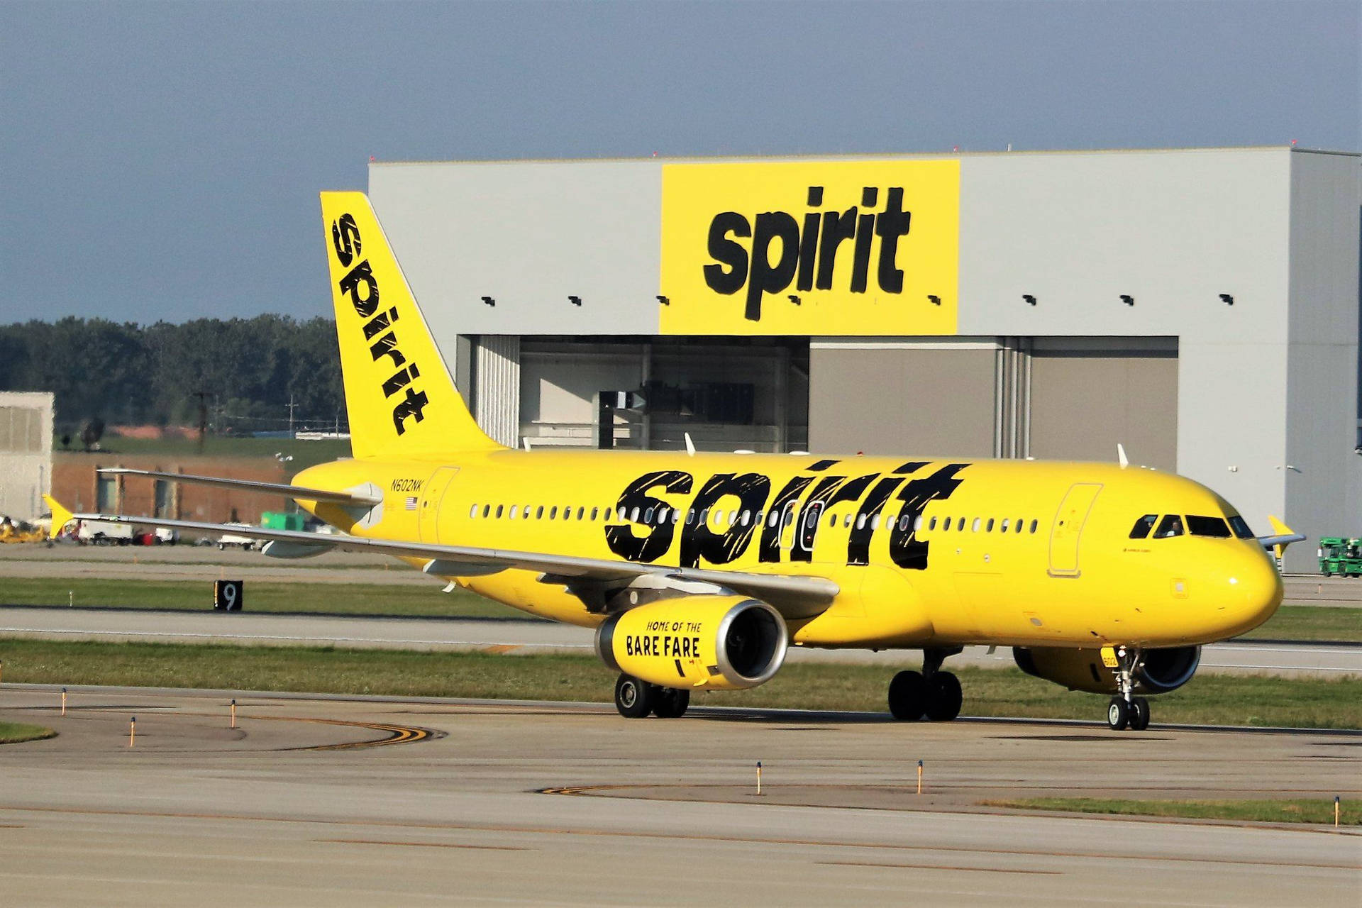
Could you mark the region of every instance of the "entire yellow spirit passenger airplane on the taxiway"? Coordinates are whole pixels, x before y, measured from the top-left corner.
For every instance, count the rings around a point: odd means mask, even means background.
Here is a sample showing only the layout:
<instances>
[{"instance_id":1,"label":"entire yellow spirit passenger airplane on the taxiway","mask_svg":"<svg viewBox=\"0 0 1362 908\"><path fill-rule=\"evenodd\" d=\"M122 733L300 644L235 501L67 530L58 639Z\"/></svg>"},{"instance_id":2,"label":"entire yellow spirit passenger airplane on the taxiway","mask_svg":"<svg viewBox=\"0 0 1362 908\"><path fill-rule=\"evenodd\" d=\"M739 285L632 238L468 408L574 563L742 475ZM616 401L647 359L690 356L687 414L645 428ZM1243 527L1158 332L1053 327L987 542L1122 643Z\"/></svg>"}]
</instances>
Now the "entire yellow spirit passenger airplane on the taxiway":
<instances>
[{"instance_id":1,"label":"entire yellow spirit passenger airplane on the taxiway","mask_svg":"<svg viewBox=\"0 0 1362 908\"><path fill-rule=\"evenodd\" d=\"M1111 694L1184 685L1200 644L1282 600L1265 547L1189 479L1102 463L516 451L473 421L364 193L321 193L353 459L274 485L347 535L252 528L264 553L385 553L535 615L597 629L629 717L674 717L693 690L755 687L794 647L922 649L888 705L960 712L943 660L1012 647L1027 672ZM72 515L219 532L221 524ZM233 532L247 532L240 527ZM451 587L452 588L452 587Z\"/></svg>"}]
</instances>

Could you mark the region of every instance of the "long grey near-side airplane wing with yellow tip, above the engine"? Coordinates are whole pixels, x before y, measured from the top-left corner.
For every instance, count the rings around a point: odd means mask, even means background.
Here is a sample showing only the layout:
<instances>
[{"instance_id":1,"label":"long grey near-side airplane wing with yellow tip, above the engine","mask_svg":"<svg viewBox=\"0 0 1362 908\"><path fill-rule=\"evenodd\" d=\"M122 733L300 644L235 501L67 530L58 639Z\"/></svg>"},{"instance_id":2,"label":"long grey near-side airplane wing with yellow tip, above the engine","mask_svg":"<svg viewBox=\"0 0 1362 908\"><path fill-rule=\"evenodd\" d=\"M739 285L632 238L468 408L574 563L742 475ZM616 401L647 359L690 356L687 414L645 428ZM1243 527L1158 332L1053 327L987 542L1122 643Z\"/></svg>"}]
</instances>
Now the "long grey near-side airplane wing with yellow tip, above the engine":
<instances>
[{"instance_id":1,"label":"long grey near-side airplane wing with yellow tip, above the engine","mask_svg":"<svg viewBox=\"0 0 1362 908\"><path fill-rule=\"evenodd\" d=\"M712 584L731 589L740 595L753 596L770 603L786 618L812 618L821 614L840 592L840 587L827 577L804 574L763 574L704 568L669 568L665 565L635 564L632 561L606 561L605 558L579 558L575 555L479 549L474 546L443 546L395 539L365 539L362 536L339 534L319 535L297 530L266 530L264 527L200 523L197 520L71 513L50 497L45 497L45 500L52 508L53 535L60 532L61 527L71 520L106 520L110 523L131 523L143 527L168 527L170 530L191 530L208 534L230 532L240 536L264 539L271 543L282 543L281 554L283 557L320 554L330 549L339 549L342 551L368 551L399 558L425 558L426 564L422 570L439 577L469 577L515 568L520 570L538 570L541 572L541 583L561 584L573 591L592 583L599 584L654 576ZM315 551L304 551L306 549Z\"/></svg>"}]
</instances>

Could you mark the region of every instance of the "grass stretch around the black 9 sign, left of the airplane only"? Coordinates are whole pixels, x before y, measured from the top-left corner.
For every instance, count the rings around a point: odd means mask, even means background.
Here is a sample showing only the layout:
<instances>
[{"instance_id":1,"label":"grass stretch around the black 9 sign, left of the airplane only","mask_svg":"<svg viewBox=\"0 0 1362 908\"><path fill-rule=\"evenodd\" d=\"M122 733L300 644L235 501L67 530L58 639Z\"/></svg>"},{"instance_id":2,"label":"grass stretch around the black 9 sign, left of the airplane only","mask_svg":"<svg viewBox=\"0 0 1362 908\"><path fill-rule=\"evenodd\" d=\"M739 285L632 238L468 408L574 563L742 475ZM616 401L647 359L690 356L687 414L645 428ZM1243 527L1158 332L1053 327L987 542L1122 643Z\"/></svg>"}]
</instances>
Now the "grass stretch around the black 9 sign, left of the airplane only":
<instances>
[{"instance_id":1,"label":"grass stretch around the black 9 sign, left of the airplane only","mask_svg":"<svg viewBox=\"0 0 1362 908\"><path fill-rule=\"evenodd\" d=\"M394 572L411 569L394 565ZM226 569L230 577L232 569ZM204 568L203 580L61 580L0 577L0 604L117 609L212 607L217 566ZM304 574L300 580L306 580ZM245 581L248 611L304 611L335 615L406 615L422 618L526 618L523 611L490 602L466 589L440 592L429 584ZM68 599L68 595L69 599Z\"/></svg>"}]
</instances>

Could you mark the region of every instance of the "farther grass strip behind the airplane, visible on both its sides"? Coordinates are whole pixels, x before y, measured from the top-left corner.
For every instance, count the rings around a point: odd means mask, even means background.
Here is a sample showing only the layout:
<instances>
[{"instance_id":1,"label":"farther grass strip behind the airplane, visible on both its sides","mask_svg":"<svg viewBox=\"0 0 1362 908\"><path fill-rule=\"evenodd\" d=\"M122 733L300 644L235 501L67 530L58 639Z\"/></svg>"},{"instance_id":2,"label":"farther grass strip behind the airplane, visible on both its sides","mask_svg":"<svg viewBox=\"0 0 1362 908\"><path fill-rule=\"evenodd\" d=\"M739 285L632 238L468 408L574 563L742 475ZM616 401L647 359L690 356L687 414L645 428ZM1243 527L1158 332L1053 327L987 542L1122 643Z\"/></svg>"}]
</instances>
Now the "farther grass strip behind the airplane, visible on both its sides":
<instances>
[{"instance_id":1,"label":"farther grass strip behind the airplane, visible on both its sides","mask_svg":"<svg viewBox=\"0 0 1362 908\"><path fill-rule=\"evenodd\" d=\"M403 565L395 569L407 570ZM215 572L204 580L101 580L0 577L0 604L173 609L202 611L212 606ZM455 589L383 583L247 581L247 610L332 615L399 615L418 618L527 618L526 613ZM1282 606L1261 628L1241 640L1351 640L1362 643L1362 609Z\"/></svg>"}]
</instances>

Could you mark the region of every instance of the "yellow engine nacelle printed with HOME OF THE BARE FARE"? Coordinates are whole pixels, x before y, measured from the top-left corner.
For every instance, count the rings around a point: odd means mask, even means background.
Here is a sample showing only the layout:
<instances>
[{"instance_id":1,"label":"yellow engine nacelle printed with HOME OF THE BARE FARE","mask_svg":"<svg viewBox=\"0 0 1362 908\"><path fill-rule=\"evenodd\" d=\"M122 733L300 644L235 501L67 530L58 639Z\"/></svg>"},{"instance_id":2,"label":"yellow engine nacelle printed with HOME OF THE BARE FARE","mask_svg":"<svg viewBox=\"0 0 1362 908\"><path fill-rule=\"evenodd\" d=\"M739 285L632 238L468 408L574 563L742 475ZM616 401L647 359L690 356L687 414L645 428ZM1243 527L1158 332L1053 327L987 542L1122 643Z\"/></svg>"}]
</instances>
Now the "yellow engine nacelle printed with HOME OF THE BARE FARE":
<instances>
[{"instance_id":1,"label":"yellow engine nacelle printed with HOME OF THE BARE FARE","mask_svg":"<svg viewBox=\"0 0 1362 908\"><path fill-rule=\"evenodd\" d=\"M789 644L785 618L746 596L678 596L610 615L597 655L665 687L731 690L771 681Z\"/></svg>"}]
</instances>

